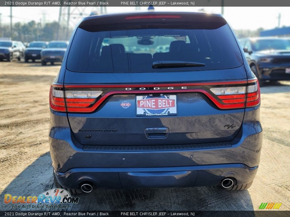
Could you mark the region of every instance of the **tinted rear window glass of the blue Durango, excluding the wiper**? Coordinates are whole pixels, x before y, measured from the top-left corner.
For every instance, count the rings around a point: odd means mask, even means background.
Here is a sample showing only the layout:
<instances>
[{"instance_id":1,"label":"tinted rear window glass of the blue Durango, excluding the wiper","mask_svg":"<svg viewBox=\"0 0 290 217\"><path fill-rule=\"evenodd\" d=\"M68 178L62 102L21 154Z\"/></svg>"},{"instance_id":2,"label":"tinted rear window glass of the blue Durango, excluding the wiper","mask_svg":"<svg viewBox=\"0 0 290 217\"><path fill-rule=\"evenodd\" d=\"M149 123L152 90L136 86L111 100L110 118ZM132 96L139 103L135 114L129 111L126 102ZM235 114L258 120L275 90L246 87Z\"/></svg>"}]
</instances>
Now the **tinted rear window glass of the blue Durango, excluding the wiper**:
<instances>
[{"instance_id":1,"label":"tinted rear window glass of the blue Durango, excluding the wiper","mask_svg":"<svg viewBox=\"0 0 290 217\"><path fill-rule=\"evenodd\" d=\"M78 28L66 67L76 72L154 72L227 69L243 64L227 24L215 29L200 26L182 29L180 25L172 28L151 25L148 29L111 31ZM156 61L192 61L205 66L153 68Z\"/></svg>"}]
</instances>

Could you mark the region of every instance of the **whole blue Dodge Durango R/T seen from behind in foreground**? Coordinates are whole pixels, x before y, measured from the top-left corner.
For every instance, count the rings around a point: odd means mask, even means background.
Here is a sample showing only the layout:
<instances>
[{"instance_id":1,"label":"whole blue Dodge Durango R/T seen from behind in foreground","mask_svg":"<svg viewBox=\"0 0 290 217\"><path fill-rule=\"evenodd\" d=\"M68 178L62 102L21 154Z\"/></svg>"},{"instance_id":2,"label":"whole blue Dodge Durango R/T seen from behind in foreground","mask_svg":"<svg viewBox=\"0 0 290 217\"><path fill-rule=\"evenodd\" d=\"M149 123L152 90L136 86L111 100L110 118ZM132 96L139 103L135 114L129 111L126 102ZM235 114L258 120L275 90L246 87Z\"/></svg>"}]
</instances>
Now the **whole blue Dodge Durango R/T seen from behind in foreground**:
<instances>
[{"instance_id":1,"label":"whole blue Dodge Durango R/T seen from behind in foreground","mask_svg":"<svg viewBox=\"0 0 290 217\"><path fill-rule=\"evenodd\" d=\"M262 146L259 106L257 78L223 17L87 17L50 89L55 184L247 189Z\"/></svg>"}]
</instances>

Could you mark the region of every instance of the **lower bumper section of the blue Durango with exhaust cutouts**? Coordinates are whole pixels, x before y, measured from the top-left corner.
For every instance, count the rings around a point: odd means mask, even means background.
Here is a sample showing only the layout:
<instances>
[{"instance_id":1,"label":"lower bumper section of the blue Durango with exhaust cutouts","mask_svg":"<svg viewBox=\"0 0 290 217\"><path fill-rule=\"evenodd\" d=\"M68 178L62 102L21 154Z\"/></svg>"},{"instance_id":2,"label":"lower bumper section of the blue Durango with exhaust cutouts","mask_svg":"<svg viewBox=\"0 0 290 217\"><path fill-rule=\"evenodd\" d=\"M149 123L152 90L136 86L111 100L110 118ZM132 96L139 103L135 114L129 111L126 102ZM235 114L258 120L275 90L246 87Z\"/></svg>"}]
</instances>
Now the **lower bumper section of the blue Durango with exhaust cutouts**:
<instances>
[{"instance_id":1,"label":"lower bumper section of the blue Durango with exhaust cutouts","mask_svg":"<svg viewBox=\"0 0 290 217\"><path fill-rule=\"evenodd\" d=\"M252 181L257 168L243 164L218 164L163 168L74 168L65 173L54 170L58 182L72 189L79 189L83 182L97 188L130 189L160 187L216 186L226 177L233 177L238 184Z\"/></svg>"}]
</instances>

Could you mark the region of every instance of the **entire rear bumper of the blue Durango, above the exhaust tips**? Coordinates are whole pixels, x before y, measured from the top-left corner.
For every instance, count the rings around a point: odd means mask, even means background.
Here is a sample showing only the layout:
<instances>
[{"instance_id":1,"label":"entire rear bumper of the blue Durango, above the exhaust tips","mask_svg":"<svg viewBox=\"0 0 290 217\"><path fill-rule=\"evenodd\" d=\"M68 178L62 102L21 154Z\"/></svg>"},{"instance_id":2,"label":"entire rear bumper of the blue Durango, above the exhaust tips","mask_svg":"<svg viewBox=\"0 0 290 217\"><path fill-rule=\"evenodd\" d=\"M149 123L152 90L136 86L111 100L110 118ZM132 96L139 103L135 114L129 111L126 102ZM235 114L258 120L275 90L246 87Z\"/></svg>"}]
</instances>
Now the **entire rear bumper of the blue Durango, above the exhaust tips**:
<instances>
[{"instance_id":1,"label":"entire rear bumper of the blue Durango, above the exhaust tips","mask_svg":"<svg viewBox=\"0 0 290 217\"><path fill-rule=\"evenodd\" d=\"M262 127L259 106L246 109L237 137L227 146L192 149L84 149L71 133L66 114L53 112L50 154L59 183L79 188L215 186L226 177L251 182L259 165Z\"/></svg>"}]
</instances>

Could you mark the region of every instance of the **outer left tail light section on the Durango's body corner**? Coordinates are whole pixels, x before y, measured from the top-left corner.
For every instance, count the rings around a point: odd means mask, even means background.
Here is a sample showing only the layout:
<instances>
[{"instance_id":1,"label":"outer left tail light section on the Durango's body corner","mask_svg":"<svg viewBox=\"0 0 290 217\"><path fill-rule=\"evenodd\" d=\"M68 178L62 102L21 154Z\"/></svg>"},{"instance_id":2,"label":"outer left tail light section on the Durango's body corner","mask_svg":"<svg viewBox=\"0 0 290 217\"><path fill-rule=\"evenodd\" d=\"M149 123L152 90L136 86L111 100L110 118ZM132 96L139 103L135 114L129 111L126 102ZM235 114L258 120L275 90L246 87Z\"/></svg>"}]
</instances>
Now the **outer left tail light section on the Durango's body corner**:
<instances>
[{"instance_id":1,"label":"outer left tail light section on the Durango's body corner","mask_svg":"<svg viewBox=\"0 0 290 217\"><path fill-rule=\"evenodd\" d=\"M49 93L50 108L56 112L66 112L63 85L51 85Z\"/></svg>"}]
</instances>

